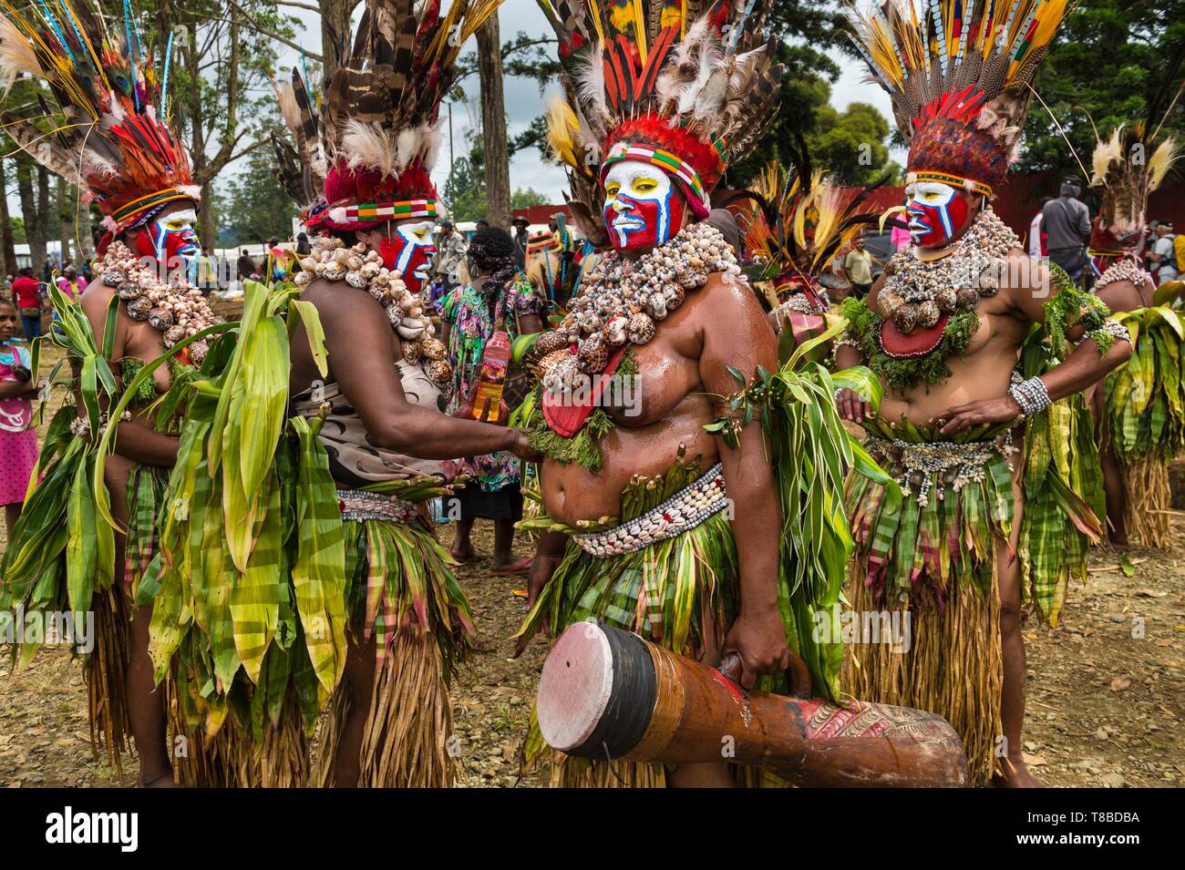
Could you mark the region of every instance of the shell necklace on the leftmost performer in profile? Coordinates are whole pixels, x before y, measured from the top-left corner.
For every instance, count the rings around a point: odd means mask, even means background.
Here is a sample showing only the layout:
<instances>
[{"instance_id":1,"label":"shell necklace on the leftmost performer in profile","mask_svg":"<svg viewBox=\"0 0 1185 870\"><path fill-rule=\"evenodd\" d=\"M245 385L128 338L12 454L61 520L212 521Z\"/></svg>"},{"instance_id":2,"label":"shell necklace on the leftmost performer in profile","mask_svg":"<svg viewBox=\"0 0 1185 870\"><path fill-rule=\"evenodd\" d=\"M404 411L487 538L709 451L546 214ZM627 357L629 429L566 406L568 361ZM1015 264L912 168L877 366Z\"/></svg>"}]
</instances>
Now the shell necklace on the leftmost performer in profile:
<instances>
[{"instance_id":1,"label":"shell necklace on the leftmost performer in profile","mask_svg":"<svg viewBox=\"0 0 1185 870\"><path fill-rule=\"evenodd\" d=\"M217 322L206 297L184 275L177 273L167 283L161 282L158 270L143 265L122 241L111 243L100 260L98 271L103 283L115 289L132 320L147 321L164 334L166 348ZM200 366L209 349L210 342L201 339L185 350L190 360Z\"/></svg>"}]
</instances>

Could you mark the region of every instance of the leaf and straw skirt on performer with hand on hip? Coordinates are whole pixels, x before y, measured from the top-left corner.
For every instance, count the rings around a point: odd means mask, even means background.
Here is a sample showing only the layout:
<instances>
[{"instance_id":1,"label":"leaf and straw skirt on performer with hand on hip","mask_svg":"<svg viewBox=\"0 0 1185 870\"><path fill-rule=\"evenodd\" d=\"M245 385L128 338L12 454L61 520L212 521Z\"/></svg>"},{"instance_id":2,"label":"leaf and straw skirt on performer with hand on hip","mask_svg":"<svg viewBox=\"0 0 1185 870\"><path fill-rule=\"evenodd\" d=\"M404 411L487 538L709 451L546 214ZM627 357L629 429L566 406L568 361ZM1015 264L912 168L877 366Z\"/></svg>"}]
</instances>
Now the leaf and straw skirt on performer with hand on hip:
<instances>
[{"instance_id":1,"label":"leaf and straw skirt on performer with hand on hip","mask_svg":"<svg viewBox=\"0 0 1185 870\"><path fill-rule=\"evenodd\" d=\"M895 624L908 631L845 637L845 694L943 716L962 737L972 781L986 782L1003 734L997 552L1012 530L1011 440L950 449L907 424L865 446L897 477L904 497L892 509L884 486L848 478L857 552L847 616L861 632ZM929 447L946 459L921 462Z\"/></svg>"}]
</instances>

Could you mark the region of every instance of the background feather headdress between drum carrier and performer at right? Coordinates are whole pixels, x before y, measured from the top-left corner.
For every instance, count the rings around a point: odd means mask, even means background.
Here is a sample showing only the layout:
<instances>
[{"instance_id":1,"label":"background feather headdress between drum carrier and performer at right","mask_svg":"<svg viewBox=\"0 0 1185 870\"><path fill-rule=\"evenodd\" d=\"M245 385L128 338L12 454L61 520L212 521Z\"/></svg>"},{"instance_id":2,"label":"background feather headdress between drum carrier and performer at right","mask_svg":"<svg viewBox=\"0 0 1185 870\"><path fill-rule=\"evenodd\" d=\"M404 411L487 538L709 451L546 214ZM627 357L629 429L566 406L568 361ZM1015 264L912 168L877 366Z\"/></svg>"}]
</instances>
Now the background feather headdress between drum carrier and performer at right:
<instances>
[{"instance_id":1,"label":"background feather headdress between drum carrier and performer at right","mask_svg":"<svg viewBox=\"0 0 1185 870\"><path fill-rule=\"evenodd\" d=\"M841 247L879 215L861 212L875 189L845 191L822 181L809 165L784 168L770 162L752 186L763 202L741 215L751 281L769 281L779 299L795 292L813 295L819 277Z\"/></svg>"}]
</instances>

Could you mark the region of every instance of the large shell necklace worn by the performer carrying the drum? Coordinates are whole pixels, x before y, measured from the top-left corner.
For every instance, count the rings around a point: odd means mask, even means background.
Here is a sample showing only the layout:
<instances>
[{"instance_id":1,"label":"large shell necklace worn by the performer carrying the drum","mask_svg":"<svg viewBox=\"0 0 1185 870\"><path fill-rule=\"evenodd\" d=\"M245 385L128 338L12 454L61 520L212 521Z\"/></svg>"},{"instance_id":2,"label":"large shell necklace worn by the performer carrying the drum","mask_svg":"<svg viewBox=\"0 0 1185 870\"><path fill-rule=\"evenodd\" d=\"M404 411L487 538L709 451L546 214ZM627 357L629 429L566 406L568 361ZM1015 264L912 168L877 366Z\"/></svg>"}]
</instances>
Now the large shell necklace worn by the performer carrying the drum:
<instances>
[{"instance_id":1,"label":"large shell necklace worn by the performer carrying the drum","mask_svg":"<svg viewBox=\"0 0 1185 870\"><path fill-rule=\"evenodd\" d=\"M574 388L582 375L603 372L610 352L627 341L646 344L656 321L713 272L739 278L741 266L720 231L704 223L685 226L636 263L624 262L616 251L606 253L561 324L536 342L544 388Z\"/></svg>"}]
</instances>

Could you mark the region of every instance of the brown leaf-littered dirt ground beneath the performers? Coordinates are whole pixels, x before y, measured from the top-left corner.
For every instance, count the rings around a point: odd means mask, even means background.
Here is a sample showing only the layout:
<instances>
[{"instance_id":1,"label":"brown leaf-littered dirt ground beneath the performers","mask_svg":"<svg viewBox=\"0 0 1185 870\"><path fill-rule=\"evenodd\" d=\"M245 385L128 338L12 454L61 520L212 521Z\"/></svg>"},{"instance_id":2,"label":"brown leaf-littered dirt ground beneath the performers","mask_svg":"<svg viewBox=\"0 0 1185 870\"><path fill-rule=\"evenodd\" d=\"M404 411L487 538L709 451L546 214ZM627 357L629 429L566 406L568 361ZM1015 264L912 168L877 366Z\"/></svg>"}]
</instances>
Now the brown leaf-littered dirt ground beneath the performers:
<instances>
[{"instance_id":1,"label":"brown leaf-littered dirt ground beneath the performers","mask_svg":"<svg viewBox=\"0 0 1185 870\"><path fill-rule=\"evenodd\" d=\"M1179 505L1180 507L1180 505ZM1173 515L1185 541L1185 511ZM450 542L450 526L441 529ZM492 526L478 523L475 546L488 556ZM0 523L0 546L5 542ZM526 555L520 540L515 549ZM1029 705L1024 748L1051 786L1185 785L1185 547L1128 553L1125 575L1114 553L1091 558L1085 587L1070 589L1057 630L1030 625ZM461 581L478 625L476 652L453 691L461 737L460 786L511 787L530 718L545 644L512 659L510 637L525 605L523 578L495 578L488 561L465 566ZM43 649L19 675L0 655L0 785L113 786L115 771L91 756L81 663ZM133 779L134 759L124 761ZM543 785L536 774L519 786Z\"/></svg>"}]
</instances>

